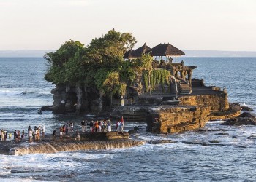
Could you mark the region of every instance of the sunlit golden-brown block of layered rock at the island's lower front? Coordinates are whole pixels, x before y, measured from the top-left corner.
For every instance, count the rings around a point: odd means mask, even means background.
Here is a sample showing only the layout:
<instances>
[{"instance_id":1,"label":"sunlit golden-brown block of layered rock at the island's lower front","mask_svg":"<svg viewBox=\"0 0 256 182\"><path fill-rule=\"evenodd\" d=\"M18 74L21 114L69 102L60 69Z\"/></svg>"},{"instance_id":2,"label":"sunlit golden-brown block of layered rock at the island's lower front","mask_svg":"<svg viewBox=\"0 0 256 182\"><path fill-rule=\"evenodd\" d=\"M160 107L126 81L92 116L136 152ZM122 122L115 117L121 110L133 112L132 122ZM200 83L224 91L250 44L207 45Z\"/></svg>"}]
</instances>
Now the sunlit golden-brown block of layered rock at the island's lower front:
<instances>
[{"instance_id":1,"label":"sunlit golden-brown block of layered rock at the island's lower front","mask_svg":"<svg viewBox=\"0 0 256 182\"><path fill-rule=\"evenodd\" d=\"M210 110L200 106L159 106L149 111L148 131L173 133L204 127Z\"/></svg>"}]
</instances>

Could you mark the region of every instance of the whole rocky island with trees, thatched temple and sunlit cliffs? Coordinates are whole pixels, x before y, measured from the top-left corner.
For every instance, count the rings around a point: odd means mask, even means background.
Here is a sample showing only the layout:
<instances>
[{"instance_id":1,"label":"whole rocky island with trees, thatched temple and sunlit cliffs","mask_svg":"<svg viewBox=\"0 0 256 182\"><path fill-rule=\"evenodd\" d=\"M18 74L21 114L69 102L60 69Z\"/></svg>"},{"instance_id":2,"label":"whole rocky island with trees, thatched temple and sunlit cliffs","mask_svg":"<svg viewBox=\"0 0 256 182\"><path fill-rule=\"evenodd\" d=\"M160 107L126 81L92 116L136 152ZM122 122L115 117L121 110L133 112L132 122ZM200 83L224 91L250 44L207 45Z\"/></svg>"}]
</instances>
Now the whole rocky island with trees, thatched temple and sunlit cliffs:
<instances>
[{"instance_id":1,"label":"whole rocky island with trees, thatched temple and sunlit cliffs","mask_svg":"<svg viewBox=\"0 0 256 182\"><path fill-rule=\"evenodd\" d=\"M71 40L48 52L45 79L56 85L53 113L123 116L147 122L153 133L195 130L210 119L240 114L225 89L192 78L197 66L177 61L183 51L169 43L133 50L135 43L131 33L113 29L86 47Z\"/></svg>"}]
</instances>

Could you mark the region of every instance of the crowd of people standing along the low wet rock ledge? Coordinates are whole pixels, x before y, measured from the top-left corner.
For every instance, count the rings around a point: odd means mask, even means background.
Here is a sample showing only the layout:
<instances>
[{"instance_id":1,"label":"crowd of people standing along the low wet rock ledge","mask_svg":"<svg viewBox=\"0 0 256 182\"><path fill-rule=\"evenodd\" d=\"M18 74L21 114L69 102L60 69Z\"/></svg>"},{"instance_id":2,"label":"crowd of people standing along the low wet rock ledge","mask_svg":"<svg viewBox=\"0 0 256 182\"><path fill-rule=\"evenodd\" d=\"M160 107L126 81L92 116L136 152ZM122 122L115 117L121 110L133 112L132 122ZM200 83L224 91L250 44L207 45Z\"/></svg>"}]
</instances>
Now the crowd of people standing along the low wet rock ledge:
<instances>
[{"instance_id":1,"label":"crowd of people standing along the low wet rock ledge","mask_svg":"<svg viewBox=\"0 0 256 182\"><path fill-rule=\"evenodd\" d=\"M88 122L86 119L83 119L80 123L82 130L81 132L111 132L111 121L110 119L106 120L91 120L91 122ZM116 122L116 131L117 132L124 132L124 122L123 120ZM74 123L73 122L67 122L64 125L61 125L59 127L59 137L62 138L63 135L69 135L69 132L74 132ZM53 137L56 137L57 130L53 130ZM80 140L80 133L79 130L75 131L76 138L75 140ZM39 141L40 138L45 137L45 126L34 126L34 129L31 128L31 126L28 127L28 139L29 141ZM1 129L0 130L0 139L1 141L8 141L12 140L12 132L7 132L7 130ZM20 130L15 130L13 132L13 139L15 141L23 140L25 137L25 131L23 130L20 132Z\"/></svg>"}]
</instances>

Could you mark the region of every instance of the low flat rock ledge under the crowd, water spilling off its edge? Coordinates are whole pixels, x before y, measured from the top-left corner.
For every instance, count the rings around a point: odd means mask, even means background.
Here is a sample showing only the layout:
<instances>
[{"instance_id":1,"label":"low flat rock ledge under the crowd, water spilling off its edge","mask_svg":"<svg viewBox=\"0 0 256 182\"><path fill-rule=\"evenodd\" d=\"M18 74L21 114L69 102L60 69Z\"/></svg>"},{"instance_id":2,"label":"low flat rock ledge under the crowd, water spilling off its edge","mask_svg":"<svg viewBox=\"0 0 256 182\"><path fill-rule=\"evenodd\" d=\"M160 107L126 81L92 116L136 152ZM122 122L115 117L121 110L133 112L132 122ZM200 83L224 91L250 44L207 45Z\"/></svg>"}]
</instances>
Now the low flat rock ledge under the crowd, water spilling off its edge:
<instances>
[{"instance_id":1,"label":"low flat rock ledge under the crowd, water spilling off its edge","mask_svg":"<svg viewBox=\"0 0 256 182\"><path fill-rule=\"evenodd\" d=\"M139 146L144 143L145 141L130 140L127 132L86 132L80 134L79 141L75 140L75 135L64 135L63 138L46 135L45 138L33 142L29 142L27 139L3 141L0 146L0 154L48 154L86 149L117 149Z\"/></svg>"}]
</instances>

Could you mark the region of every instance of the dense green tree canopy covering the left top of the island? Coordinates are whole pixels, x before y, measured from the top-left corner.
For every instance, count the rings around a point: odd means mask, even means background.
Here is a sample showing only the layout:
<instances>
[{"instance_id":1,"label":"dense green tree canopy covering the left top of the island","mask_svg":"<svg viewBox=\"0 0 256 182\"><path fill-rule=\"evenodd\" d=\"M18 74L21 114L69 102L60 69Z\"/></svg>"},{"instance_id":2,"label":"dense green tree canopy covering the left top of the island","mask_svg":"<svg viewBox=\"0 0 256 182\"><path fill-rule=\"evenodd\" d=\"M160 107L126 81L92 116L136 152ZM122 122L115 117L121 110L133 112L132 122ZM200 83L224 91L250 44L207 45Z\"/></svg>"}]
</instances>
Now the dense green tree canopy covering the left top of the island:
<instances>
[{"instance_id":1,"label":"dense green tree canopy covering the left top of the island","mask_svg":"<svg viewBox=\"0 0 256 182\"><path fill-rule=\"evenodd\" d=\"M150 55L143 55L140 60L133 62L123 60L124 53L132 49L135 43L136 39L131 33L120 33L114 29L92 39L86 47L80 41L65 41L56 52L45 54L49 65L45 79L53 84L94 87L100 93L110 95L111 99L114 94L124 95L127 85L135 81L136 71L148 73L149 79L153 75ZM159 83L151 80L153 84ZM145 84L148 90L148 83Z\"/></svg>"}]
</instances>

